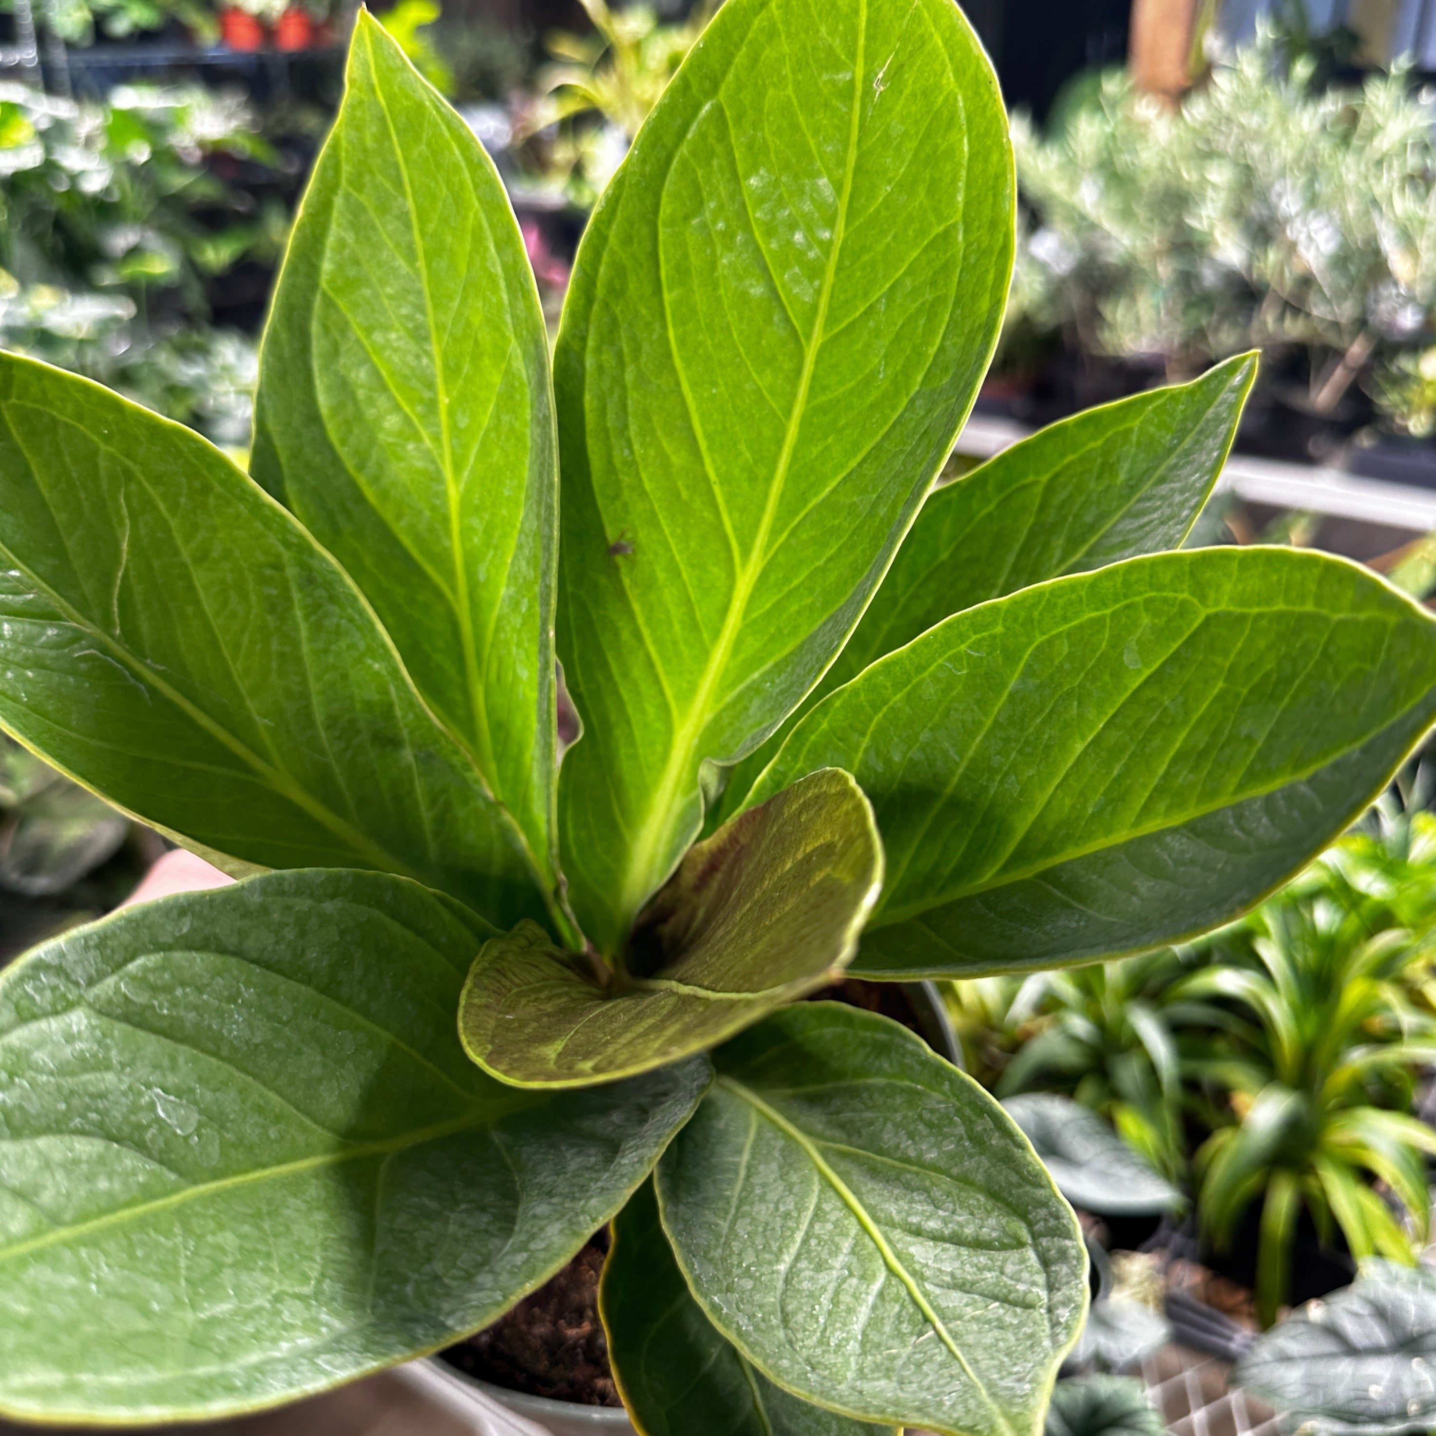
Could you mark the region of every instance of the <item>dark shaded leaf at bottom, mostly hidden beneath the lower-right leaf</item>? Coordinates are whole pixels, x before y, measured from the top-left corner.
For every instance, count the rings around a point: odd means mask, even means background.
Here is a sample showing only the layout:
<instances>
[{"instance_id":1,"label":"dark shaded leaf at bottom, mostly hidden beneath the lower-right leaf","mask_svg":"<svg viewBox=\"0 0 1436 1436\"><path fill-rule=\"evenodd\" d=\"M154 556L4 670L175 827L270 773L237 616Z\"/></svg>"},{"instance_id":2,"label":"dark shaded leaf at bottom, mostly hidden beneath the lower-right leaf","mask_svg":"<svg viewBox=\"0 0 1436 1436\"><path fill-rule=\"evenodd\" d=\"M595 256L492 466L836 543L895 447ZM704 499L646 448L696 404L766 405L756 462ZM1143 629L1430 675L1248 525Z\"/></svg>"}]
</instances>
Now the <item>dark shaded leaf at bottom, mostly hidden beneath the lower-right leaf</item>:
<instances>
[{"instance_id":1,"label":"dark shaded leaf at bottom, mostly hidden beneath the lower-right leaf","mask_svg":"<svg viewBox=\"0 0 1436 1436\"><path fill-rule=\"evenodd\" d=\"M599 1310L642 1436L900 1436L784 1391L718 1334L678 1269L652 1183L613 1222Z\"/></svg>"}]
</instances>

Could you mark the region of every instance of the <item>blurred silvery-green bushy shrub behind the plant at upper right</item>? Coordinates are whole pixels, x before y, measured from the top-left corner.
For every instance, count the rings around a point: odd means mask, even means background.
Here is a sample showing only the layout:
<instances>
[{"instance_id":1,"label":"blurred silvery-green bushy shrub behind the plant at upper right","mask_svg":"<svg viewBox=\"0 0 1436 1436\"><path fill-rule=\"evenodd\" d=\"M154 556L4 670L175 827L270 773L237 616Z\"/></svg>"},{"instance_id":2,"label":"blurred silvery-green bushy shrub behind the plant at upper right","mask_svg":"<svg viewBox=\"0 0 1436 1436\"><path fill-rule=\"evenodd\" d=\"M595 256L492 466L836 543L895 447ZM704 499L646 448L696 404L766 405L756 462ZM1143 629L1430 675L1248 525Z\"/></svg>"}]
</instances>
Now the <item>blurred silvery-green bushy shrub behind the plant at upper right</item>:
<instances>
[{"instance_id":1,"label":"blurred silvery-green bushy shrub behind the plant at upper right","mask_svg":"<svg viewBox=\"0 0 1436 1436\"><path fill-rule=\"evenodd\" d=\"M1314 414L1360 382L1390 428L1429 422L1409 356L1436 303L1436 112L1400 66L1358 89L1318 66L1268 29L1180 106L1109 72L1045 134L1017 116L1011 362L1064 337L1188 378L1259 348Z\"/></svg>"}]
</instances>

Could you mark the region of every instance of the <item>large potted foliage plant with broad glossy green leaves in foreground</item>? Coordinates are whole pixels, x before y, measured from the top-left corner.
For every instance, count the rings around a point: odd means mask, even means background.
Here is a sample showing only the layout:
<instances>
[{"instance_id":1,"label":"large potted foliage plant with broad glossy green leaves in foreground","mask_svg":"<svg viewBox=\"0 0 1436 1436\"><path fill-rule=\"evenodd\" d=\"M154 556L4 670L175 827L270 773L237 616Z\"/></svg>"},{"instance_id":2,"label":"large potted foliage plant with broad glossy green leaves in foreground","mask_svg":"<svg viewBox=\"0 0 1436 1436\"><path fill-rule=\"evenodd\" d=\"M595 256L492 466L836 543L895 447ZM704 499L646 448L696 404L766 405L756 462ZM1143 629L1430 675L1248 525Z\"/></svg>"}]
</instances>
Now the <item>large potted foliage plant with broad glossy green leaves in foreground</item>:
<instances>
[{"instance_id":1,"label":"large potted foliage plant with broad glossy green leaves in foreground","mask_svg":"<svg viewBox=\"0 0 1436 1436\"><path fill-rule=\"evenodd\" d=\"M1070 1208L919 1038L796 999L1232 918L1432 724L1436 625L1165 551L1251 359L935 490L1012 244L952 0L728 0L550 378L493 167L362 17L253 477L0 360L0 722L246 876L0 979L0 1409L317 1391L613 1221L648 1436L1041 1429Z\"/></svg>"}]
</instances>

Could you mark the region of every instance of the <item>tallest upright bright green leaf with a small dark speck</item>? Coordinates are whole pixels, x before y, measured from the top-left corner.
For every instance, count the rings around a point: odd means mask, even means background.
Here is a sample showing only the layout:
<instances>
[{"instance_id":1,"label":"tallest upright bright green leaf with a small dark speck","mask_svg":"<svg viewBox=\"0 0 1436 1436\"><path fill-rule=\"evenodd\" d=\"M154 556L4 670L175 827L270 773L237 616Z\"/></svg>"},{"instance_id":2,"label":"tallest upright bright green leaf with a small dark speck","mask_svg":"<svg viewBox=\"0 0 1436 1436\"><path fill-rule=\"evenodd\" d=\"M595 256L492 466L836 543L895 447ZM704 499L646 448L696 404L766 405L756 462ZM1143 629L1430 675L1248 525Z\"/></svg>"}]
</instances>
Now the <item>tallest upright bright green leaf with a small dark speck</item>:
<instances>
[{"instance_id":1,"label":"tallest upright bright green leaf with a small dark speck","mask_svg":"<svg viewBox=\"0 0 1436 1436\"><path fill-rule=\"evenodd\" d=\"M729 0L584 234L554 356L559 785L617 951L862 616L991 356L1011 149L954 0Z\"/></svg>"}]
</instances>

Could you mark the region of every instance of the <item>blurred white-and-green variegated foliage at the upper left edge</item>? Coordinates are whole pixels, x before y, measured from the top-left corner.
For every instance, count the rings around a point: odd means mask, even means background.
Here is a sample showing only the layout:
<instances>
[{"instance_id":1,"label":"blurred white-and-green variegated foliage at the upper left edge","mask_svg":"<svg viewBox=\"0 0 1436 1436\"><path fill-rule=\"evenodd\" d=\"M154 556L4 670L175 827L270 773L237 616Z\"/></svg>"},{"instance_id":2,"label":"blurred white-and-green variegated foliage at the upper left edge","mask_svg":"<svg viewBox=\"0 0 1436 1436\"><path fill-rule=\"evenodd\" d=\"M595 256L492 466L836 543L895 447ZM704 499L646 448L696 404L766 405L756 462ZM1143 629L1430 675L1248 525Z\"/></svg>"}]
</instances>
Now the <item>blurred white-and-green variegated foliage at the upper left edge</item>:
<instances>
[{"instance_id":1,"label":"blurred white-and-green variegated foliage at the upper left edge","mask_svg":"<svg viewBox=\"0 0 1436 1436\"><path fill-rule=\"evenodd\" d=\"M0 86L0 343L248 445L254 340L210 323L210 286L277 263L289 220L213 161L273 167L248 106L123 86L105 105Z\"/></svg>"}]
</instances>

